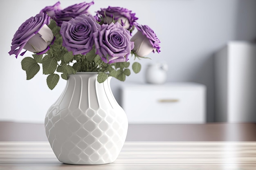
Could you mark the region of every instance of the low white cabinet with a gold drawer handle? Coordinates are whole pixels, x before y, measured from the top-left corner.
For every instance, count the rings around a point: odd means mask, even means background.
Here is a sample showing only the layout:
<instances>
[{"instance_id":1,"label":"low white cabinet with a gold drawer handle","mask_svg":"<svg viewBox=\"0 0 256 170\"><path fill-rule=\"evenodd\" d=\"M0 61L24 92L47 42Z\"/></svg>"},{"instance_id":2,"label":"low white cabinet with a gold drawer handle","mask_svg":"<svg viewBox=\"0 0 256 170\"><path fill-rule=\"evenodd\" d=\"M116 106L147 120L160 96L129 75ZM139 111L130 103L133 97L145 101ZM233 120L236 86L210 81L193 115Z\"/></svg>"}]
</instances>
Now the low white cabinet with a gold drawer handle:
<instances>
[{"instance_id":1,"label":"low white cabinet with a gold drawer handle","mask_svg":"<svg viewBox=\"0 0 256 170\"><path fill-rule=\"evenodd\" d=\"M202 124L206 87L195 83L129 84L121 105L130 124Z\"/></svg>"}]
</instances>

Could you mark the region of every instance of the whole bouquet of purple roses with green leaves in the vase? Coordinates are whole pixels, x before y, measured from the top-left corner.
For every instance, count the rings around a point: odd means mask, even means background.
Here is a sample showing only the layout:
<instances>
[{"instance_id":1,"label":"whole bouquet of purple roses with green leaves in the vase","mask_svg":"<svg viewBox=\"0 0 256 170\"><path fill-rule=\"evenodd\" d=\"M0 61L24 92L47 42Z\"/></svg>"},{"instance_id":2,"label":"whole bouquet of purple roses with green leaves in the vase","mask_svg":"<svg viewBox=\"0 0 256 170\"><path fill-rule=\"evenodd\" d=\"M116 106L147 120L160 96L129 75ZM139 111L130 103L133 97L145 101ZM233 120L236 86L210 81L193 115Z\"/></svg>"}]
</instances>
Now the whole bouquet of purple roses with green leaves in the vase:
<instances>
[{"instance_id":1,"label":"whole bouquet of purple roses with green leaves in the vase","mask_svg":"<svg viewBox=\"0 0 256 170\"><path fill-rule=\"evenodd\" d=\"M94 2L74 4L61 9L60 2L45 7L26 20L16 31L10 55L25 57L21 66L27 79L33 78L43 67L47 85L52 90L61 77L68 79L76 72L97 72L97 81L109 76L121 81L130 75L129 55L146 58L150 52L160 52L160 41L149 26L140 25L135 13L121 7L103 8L91 15L88 8ZM137 33L132 36L132 31ZM21 53L22 49L25 49ZM138 73L141 65L132 64Z\"/></svg>"}]
</instances>

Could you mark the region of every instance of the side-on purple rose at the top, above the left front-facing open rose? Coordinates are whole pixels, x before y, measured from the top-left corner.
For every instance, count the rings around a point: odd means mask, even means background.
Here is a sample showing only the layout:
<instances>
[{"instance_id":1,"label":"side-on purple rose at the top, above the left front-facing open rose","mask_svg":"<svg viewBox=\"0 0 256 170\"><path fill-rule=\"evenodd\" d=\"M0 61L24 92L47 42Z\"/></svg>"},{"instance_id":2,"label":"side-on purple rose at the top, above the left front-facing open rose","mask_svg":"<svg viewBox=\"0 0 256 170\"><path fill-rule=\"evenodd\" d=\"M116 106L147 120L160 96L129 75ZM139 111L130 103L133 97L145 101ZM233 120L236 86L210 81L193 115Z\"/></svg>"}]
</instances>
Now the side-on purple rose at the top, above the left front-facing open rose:
<instances>
[{"instance_id":1,"label":"side-on purple rose at the top, above the left front-facing open rose","mask_svg":"<svg viewBox=\"0 0 256 170\"><path fill-rule=\"evenodd\" d=\"M71 5L61 11L56 11L56 15L53 17L53 19L57 22L58 26L61 26L63 21L69 21L81 14L88 15L88 8L92 4L94 4L93 1L90 3L82 2L80 4Z\"/></svg>"}]
</instances>

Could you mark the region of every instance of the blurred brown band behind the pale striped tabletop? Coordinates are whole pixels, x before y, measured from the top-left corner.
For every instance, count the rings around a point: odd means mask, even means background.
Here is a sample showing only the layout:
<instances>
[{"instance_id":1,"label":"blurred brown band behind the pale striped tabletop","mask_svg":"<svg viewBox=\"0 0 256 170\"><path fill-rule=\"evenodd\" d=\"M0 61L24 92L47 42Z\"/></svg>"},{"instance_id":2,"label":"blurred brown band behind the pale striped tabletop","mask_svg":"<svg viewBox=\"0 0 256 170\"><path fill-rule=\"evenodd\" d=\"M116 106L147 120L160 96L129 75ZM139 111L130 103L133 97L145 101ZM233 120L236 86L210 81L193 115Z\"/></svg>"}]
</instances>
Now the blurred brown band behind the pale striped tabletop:
<instances>
[{"instance_id":1,"label":"blurred brown band behind the pale striped tabletop","mask_svg":"<svg viewBox=\"0 0 256 170\"><path fill-rule=\"evenodd\" d=\"M47 141L45 126L0 121L0 141ZM129 124L126 141L256 141L256 124Z\"/></svg>"}]
</instances>

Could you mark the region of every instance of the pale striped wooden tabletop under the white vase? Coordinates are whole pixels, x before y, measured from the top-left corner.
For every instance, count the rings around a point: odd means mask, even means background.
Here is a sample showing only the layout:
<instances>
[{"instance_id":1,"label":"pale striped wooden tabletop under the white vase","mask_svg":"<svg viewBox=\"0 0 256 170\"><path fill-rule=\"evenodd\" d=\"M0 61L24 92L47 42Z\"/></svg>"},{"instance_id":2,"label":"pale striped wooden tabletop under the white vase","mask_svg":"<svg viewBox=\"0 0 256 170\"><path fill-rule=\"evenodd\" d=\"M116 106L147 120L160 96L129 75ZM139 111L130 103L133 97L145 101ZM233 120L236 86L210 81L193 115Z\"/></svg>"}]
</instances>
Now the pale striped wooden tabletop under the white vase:
<instances>
[{"instance_id":1,"label":"pale striped wooden tabletop under the white vase","mask_svg":"<svg viewBox=\"0 0 256 170\"><path fill-rule=\"evenodd\" d=\"M256 170L256 142L127 141L114 163L59 162L47 141L0 141L0 170Z\"/></svg>"}]
</instances>

